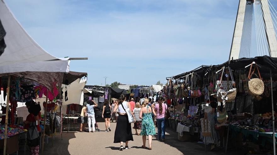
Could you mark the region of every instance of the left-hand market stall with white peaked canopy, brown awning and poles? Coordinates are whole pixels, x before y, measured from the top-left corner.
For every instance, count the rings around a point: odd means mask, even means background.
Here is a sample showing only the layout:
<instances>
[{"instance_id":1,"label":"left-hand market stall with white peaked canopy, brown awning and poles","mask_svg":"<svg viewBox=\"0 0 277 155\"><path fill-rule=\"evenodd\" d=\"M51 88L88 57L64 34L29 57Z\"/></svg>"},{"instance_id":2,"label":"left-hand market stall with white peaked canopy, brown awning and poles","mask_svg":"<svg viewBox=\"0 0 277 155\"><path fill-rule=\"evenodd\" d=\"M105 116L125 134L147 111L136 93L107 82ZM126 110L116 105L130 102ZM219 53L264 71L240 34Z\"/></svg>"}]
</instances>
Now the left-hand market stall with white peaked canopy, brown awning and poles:
<instances>
[{"instance_id":1,"label":"left-hand market stall with white peaked canopy, brown awning and poles","mask_svg":"<svg viewBox=\"0 0 277 155\"><path fill-rule=\"evenodd\" d=\"M59 59L43 50L21 27L4 1L0 2L0 19L7 32L4 37L7 48L0 56L1 87L7 105L6 116L3 119L5 122L3 154L6 154L8 119L14 121L16 102L30 101L37 96L42 97L43 94L46 96L46 103L48 99L49 101L56 99L60 94L65 74L69 72L70 58ZM44 132L45 130L42 133L42 153Z\"/></svg>"}]
</instances>

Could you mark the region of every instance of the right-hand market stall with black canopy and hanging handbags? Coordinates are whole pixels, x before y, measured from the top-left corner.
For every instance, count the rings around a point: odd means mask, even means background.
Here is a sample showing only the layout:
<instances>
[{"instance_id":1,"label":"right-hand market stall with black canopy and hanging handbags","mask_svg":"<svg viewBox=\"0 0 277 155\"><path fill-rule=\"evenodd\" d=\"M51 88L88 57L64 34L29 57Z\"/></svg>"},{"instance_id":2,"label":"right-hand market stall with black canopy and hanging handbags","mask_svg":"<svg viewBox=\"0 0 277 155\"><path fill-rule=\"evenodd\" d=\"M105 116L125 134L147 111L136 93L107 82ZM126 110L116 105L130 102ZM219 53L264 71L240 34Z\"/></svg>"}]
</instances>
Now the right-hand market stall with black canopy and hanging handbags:
<instances>
[{"instance_id":1,"label":"right-hand market stall with black canopy and hanging handbags","mask_svg":"<svg viewBox=\"0 0 277 155\"><path fill-rule=\"evenodd\" d=\"M265 146L266 142L269 142L269 145L275 144L276 84L274 83L277 76L272 73L277 73L276 64L276 58L263 56L231 60L221 65L202 65L195 70L167 78L169 83L165 88L167 103L176 106L183 99L184 116L188 117L190 107L196 106L198 109L196 114L199 118L203 118L205 112L201 109L209 106L211 101L217 101L217 126L228 131L225 132L227 135L222 135L227 138L226 150L229 132L233 137L237 133L242 133L244 141L250 138L252 142L262 143L262 146ZM252 83L258 81L260 86L257 89L257 84L251 85L249 81ZM253 95L249 93L252 89L261 92ZM244 112L250 113L251 116L241 117ZM265 120L263 115L266 113L269 114L266 123L263 121L262 125L257 121L254 122L254 118ZM237 125L239 121L244 125ZM201 134L202 132L203 130Z\"/></svg>"}]
</instances>

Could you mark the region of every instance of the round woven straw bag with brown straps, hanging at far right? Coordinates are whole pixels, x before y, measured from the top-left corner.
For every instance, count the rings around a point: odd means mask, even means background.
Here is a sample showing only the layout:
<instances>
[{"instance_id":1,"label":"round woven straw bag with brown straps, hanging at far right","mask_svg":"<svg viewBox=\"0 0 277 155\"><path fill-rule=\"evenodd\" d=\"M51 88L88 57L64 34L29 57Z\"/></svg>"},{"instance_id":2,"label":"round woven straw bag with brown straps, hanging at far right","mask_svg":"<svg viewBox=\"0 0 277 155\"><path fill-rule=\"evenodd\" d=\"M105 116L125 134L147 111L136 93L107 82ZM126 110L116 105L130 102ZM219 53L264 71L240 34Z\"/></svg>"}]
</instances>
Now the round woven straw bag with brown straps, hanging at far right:
<instances>
[{"instance_id":1,"label":"round woven straw bag with brown straps, hanging at far right","mask_svg":"<svg viewBox=\"0 0 277 155\"><path fill-rule=\"evenodd\" d=\"M264 84L263 84L263 79L261 77L260 71L258 69L258 66L255 65L253 72L251 73L253 63L251 64L249 74L248 74L248 93L252 96L259 96L263 94L264 91ZM257 68L259 78L253 78L251 79L252 75L254 74L255 70Z\"/></svg>"}]
</instances>

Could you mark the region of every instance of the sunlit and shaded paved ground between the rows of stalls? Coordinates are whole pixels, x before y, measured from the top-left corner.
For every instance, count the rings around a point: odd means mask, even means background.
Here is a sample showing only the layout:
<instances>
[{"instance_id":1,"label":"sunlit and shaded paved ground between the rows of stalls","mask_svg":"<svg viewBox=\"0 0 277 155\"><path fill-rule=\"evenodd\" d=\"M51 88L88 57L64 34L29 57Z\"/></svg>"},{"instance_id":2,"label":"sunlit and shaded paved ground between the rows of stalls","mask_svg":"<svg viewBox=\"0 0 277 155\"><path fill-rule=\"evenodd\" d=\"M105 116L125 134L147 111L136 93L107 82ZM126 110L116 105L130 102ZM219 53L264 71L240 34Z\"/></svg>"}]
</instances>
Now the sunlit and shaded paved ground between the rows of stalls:
<instances>
[{"instance_id":1,"label":"sunlit and shaded paved ground between the rows of stalls","mask_svg":"<svg viewBox=\"0 0 277 155\"><path fill-rule=\"evenodd\" d=\"M111 123L111 132L104 132L104 122L98 122L98 125L101 132L63 132L63 140L61 140L60 135L57 134L53 147L49 138L49 143L45 145L44 154L225 154L221 150L217 152L208 151L205 153L205 147L203 144L197 144L197 142L180 142L177 139L177 133L170 130L167 130L169 135L166 135L166 142L159 142L155 137L153 138L152 150L141 148L142 137L133 134L134 141L129 142L130 149L119 151L120 144L113 143L116 123ZM134 130L133 133L135 133ZM234 154L234 152L229 152L228 154Z\"/></svg>"}]
</instances>

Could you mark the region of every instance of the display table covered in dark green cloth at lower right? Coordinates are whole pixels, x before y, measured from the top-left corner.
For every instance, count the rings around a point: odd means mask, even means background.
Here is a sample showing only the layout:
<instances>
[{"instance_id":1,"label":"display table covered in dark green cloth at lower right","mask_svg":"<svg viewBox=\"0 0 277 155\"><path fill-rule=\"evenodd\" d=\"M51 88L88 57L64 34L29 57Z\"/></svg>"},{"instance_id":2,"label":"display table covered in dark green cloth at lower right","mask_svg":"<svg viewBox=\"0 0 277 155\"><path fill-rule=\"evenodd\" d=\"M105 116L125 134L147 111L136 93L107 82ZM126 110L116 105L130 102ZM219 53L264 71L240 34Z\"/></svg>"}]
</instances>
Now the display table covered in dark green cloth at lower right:
<instances>
[{"instance_id":1,"label":"display table covered in dark green cloth at lower right","mask_svg":"<svg viewBox=\"0 0 277 155\"><path fill-rule=\"evenodd\" d=\"M257 142L258 138L261 138L262 140L262 146L265 146L265 143L268 141L271 144L273 143L273 132L258 132L254 130L247 130L241 127L237 126L230 126L230 129L232 130L232 137L235 137L237 133L242 133L243 138L247 138L251 140L252 142ZM275 133L275 138L277 137L277 134Z\"/></svg>"}]
</instances>

